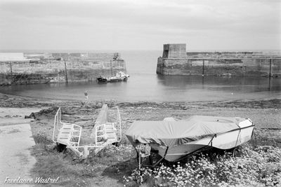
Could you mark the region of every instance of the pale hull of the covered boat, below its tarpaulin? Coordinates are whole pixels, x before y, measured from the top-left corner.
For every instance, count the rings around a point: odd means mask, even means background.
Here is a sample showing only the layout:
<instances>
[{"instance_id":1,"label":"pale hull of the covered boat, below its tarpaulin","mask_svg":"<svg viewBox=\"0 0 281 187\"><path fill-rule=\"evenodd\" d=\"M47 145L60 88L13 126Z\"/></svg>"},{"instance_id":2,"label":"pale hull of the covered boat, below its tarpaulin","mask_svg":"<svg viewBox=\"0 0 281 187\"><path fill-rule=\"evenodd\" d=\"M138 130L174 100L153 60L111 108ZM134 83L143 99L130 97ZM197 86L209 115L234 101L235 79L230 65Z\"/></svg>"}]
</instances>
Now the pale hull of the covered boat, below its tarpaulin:
<instances>
[{"instance_id":1,"label":"pale hull of the covered boat, below its tarpaulin","mask_svg":"<svg viewBox=\"0 0 281 187\"><path fill-rule=\"evenodd\" d=\"M190 141L188 144L168 148L166 155L166 146L159 146L158 144L150 144L150 146L153 150L157 150L158 154L164 157L165 160L175 162L181 160L185 155L202 150L202 148L215 147L226 150L240 146L251 139L253 130L254 125L251 125L231 132L216 134L214 137Z\"/></svg>"}]
</instances>

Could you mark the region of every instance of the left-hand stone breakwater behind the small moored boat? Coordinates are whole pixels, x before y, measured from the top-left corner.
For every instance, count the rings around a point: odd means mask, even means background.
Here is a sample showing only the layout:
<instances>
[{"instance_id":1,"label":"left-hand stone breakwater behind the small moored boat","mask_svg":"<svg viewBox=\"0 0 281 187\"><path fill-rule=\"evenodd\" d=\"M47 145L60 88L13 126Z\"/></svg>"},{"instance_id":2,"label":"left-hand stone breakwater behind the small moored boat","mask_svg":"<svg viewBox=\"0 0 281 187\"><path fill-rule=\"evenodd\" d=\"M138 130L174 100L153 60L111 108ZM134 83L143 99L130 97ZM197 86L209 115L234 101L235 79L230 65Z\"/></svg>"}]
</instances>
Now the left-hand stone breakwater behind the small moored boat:
<instances>
[{"instance_id":1,"label":"left-hand stone breakwater behind the small moored boat","mask_svg":"<svg viewBox=\"0 0 281 187\"><path fill-rule=\"evenodd\" d=\"M96 81L126 72L119 53L1 53L0 85Z\"/></svg>"}]
</instances>

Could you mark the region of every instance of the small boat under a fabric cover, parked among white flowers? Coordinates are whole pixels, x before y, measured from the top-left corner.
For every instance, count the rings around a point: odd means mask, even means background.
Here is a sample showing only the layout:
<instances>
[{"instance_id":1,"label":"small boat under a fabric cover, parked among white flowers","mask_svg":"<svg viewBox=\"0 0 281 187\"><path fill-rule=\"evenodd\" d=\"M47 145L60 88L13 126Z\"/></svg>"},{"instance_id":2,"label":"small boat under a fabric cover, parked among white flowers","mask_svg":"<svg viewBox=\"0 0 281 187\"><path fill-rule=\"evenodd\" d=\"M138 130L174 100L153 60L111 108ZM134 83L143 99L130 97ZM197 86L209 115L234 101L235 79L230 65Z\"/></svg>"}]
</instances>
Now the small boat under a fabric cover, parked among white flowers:
<instances>
[{"instance_id":1,"label":"small boat under a fabric cover, parked among white flowers","mask_svg":"<svg viewBox=\"0 0 281 187\"><path fill-rule=\"evenodd\" d=\"M191 116L186 120L135 121L126 137L134 147L149 146L163 159L174 162L206 148L235 148L249 141L253 130L248 118Z\"/></svg>"}]
</instances>

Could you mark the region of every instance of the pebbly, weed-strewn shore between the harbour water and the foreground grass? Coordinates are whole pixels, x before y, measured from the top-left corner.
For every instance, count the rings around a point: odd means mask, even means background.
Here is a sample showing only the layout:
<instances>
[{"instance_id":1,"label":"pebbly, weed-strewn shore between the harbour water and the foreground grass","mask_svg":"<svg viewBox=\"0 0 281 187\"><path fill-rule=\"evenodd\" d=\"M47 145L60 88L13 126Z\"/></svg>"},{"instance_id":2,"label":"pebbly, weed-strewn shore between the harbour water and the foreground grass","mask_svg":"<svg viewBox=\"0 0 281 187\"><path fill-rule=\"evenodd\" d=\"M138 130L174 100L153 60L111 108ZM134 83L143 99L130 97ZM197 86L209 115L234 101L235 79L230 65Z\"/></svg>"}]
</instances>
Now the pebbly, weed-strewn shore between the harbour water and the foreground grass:
<instances>
[{"instance_id":1,"label":"pebbly, weed-strewn shore between the harbour water and the foreground grass","mask_svg":"<svg viewBox=\"0 0 281 187\"><path fill-rule=\"evenodd\" d=\"M185 119L193 115L250 118L256 130L281 130L281 99L233 100L221 102L117 102L114 100L93 101L83 104L79 100L52 100L0 94L0 107L42 108L25 118L34 118L31 123L34 136L44 132L51 139L53 117L58 107L62 120L83 127L82 136L88 137L103 103L119 106L124 131L133 120L162 120L166 117ZM44 109L43 109L44 108ZM274 131L275 130L275 131ZM279 134L280 135L280 134Z\"/></svg>"}]
</instances>

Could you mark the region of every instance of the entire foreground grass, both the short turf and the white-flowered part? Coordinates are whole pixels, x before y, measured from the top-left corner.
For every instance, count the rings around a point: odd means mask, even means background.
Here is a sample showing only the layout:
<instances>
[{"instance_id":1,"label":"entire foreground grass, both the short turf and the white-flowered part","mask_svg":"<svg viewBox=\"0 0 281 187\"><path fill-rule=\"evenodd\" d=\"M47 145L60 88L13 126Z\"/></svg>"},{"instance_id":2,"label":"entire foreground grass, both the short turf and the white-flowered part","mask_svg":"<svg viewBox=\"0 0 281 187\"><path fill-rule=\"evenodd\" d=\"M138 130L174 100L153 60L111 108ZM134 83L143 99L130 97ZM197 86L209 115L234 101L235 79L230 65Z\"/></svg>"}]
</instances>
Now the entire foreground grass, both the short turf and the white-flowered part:
<instances>
[{"instance_id":1,"label":"entire foreground grass, both the short turf and the white-flowered part","mask_svg":"<svg viewBox=\"0 0 281 187\"><path fill-rule=\"evenodd\" d=\"M71 151L58 153L46 135L35 135L32 155L37 163L32 173L34 177L60 177L59 186L248 186L250 182L280 185L281 145L273 144L276 140L272 134L265 137L260 133L255 132L254 139L240 148L237 158L227 153L192 156L188 162L162 165L157 173L144 169L142 182L136 169L136 151L129 144L108 146L98 155L90 153L81 160Z\"/></svg>"}]
</instances>

